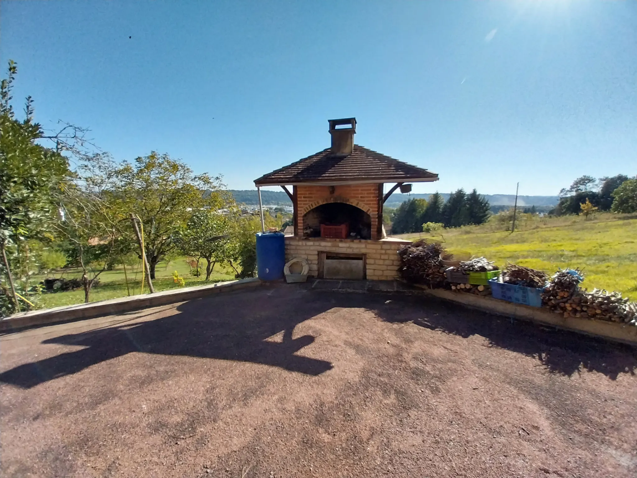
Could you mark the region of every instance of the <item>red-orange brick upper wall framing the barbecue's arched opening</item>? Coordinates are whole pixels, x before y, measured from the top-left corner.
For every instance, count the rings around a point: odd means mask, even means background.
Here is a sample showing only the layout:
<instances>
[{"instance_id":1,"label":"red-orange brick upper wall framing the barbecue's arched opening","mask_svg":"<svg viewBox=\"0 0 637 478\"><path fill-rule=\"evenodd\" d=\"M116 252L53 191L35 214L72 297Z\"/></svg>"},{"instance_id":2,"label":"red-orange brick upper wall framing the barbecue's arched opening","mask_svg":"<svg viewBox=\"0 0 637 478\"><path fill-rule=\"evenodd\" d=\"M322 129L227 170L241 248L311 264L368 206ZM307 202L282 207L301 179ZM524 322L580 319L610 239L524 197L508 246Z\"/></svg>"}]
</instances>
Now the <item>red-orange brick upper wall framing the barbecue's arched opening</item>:
<instances>
[{"instance_id":1,"label":"red-orange brick upper wall framing the barbecue's arched opening","mask_svg":"<svg viewBox=\"0 0 637 478\"><path fill-rule=\"evenodd\" d=\"M364 210L371 217L371 238L376 236L378 227L378 184L345 184L334 186L334 194L329 193L329 186L296 186L297 231L303 236L303 216L311 209L325 203L348 203Z\"/></svg>"}]
</instances>

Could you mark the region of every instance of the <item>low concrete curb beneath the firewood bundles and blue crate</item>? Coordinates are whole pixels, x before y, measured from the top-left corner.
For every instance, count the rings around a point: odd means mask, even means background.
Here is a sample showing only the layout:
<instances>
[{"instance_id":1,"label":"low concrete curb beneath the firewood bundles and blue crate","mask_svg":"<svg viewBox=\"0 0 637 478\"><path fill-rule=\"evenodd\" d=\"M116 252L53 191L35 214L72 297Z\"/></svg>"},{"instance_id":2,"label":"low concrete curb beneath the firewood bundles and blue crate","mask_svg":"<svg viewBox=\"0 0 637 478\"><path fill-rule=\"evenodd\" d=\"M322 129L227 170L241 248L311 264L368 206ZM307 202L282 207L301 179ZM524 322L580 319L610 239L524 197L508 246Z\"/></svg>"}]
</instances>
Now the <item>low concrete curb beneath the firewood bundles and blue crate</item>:
<instances>
[{"instance_id":1,"label":"low concrete curb beneath the firewood bundles and blue crate","mask_svg":"<svg viewBox=\"0 0 637 478\"><path fill-rule=\"evenodd\" d=\"M454 303L460 303L467 307L476 308L483 312L506 315L523 321L536 322L550 325L559 329L605 338L613 342L622 342L637 346L637 327L617 322L596 321L594 319L578 319L576 317L563 317L560 314L547 312L541 308L529 307L492 297L482 297L473 294L447 291L445 289L422 289L427 296L432 296Z\"/></svg>"}]
</instances>

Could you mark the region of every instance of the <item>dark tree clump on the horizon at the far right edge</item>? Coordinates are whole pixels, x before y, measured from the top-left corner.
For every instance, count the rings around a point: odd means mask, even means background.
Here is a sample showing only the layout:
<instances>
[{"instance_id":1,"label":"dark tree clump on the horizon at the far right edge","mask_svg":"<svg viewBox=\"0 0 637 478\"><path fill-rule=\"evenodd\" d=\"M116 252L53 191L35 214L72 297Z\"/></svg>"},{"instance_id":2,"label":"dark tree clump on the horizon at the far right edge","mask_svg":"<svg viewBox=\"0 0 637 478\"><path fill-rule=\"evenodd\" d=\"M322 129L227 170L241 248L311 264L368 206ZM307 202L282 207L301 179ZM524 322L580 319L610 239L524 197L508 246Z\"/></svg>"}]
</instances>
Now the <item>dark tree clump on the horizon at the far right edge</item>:
<instances>
[{"instance_id":1,"label":"dark tree clump on the horizon at the far right edge","mask_svg":"<svg viewBox=\"0 0 637 478\"><path fill-rule=\"evenodd\" d=\"M618 174L596 179L582 176L559 193L560 200L550 214L580 214L589 201L599 211L637 212L637 177Z\"/></svg>"}]
</instances>

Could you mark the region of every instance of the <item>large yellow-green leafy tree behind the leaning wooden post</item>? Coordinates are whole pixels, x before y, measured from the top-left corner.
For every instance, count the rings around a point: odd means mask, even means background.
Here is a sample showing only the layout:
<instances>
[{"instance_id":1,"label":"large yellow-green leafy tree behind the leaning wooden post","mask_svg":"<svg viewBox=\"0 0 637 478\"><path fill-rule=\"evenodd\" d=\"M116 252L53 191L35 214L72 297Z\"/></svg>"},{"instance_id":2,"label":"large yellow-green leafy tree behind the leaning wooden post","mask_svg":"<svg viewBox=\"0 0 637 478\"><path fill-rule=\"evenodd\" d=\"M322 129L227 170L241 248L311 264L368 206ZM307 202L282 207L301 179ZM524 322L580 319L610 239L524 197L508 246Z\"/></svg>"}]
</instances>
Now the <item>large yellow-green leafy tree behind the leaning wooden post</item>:
<instances>
[{"instance_id":1,"label":"large yellow-green leafy tree behind the leaning wooden post","mask_svg":"<svg viewBox=\"0 0 637 478\"><path fill-rule=\"evenodd\" d=\"M178 247L178 231L194 212L218 210L231 203L229 193L221 191L220 177L194 175L185 163L168 154L151 152L138 157L133 164L125 163L117 175L117 194L144 226L151 279L155 279L157 263Z\"/></svg>"}]
</instances>

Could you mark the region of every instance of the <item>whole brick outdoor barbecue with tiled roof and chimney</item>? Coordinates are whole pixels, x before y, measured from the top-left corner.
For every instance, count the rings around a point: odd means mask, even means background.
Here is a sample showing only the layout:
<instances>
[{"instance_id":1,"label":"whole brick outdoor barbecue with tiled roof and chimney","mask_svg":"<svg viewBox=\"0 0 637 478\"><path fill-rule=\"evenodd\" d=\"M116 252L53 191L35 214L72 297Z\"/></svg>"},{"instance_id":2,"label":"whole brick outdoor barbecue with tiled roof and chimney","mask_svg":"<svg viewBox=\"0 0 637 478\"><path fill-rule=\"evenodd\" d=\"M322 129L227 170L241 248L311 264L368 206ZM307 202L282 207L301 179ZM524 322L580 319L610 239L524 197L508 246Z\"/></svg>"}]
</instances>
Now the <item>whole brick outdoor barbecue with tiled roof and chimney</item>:
<instances>
[{"instance_id":1,"label":"whole brick outdoor barbecue with tiled roof and chimney","mask_svg":"<svg viewBox=\"0 0 637 478\"><path fill-rule=\"evenodd\" d=\"M438 175L355 145L355 118L329 120L329 133L331 147L254 182L281 186L292 200L286 260L303 257L310 275L324 279L396 279L397 250L408 241L385 236L383 203ZM385 183L394 185L385 192Z\"/></svg>"}]
</instances>

